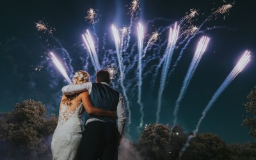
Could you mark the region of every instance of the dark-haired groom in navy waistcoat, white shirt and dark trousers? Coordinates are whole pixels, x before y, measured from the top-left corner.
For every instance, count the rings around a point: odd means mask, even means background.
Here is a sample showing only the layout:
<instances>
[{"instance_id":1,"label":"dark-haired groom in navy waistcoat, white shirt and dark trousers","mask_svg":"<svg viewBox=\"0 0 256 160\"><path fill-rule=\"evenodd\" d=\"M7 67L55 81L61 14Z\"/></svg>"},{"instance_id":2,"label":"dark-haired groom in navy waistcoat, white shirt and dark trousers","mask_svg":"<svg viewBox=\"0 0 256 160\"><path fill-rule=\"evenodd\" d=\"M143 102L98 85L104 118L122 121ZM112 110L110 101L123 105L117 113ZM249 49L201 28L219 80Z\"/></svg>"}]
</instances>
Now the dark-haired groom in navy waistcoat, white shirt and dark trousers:
<instances>
[{"instance_id":1,"label":"dark-haired groom in navy waistcoat, white shirt and dark trousers","mask_svg":"<svg viewBox=\"0 0 256 160\"><path fill-rule=\"evenodd\" d=\"M122 95L109 87L110 81L109 72L100 70L96 74L96 83L72 84L62 88L65 95L88 91L93 106L116 111L117 114L116 124L113 118L90 116L86 113L79 159L117 159L126 118Z\"/></svg>"}]
</instances>

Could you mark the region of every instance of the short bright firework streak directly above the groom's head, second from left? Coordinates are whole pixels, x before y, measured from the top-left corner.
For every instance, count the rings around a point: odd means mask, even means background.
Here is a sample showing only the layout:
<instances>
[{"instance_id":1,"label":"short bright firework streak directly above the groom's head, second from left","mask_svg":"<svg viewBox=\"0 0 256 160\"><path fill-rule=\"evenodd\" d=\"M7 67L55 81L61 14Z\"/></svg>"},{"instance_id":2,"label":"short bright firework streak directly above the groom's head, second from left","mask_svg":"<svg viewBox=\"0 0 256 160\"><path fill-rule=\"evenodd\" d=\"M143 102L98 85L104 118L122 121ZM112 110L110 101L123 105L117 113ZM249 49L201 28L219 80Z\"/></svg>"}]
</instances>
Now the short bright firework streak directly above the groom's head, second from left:
<instances>
[{"instance_id":1,"label":"short bright firework streak directly above the groom's head, second from left","mask_svg":"<svg viewBox=\"0 0 256 160\"><path fill-rule=\"evenodd\" d=\"M84 35L82 35L83 40L84 40L84 44L86 45L86 48L89 52L89 55L91 57L93 66L95 68L95 71L97 72L98 70L100 70L99 59L98 59L98 56L97 56L95 45L94 45L93 40L92 40L92 36L90 35L90 32L88 30L86 32L87 33L84 33Z\"/></svg>"}]
</instances>

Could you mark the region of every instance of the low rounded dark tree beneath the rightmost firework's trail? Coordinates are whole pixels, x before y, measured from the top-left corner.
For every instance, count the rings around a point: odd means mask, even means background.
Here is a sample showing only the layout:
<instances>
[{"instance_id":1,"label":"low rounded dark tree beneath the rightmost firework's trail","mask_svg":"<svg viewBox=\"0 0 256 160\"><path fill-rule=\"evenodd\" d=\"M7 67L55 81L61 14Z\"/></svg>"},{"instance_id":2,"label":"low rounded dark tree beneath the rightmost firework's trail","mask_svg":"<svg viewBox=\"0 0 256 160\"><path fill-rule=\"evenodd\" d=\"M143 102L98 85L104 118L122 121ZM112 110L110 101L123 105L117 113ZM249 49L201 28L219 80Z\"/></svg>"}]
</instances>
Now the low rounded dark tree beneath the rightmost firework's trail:
<instances>
[{"instance_id":1,"label":"low rounded dark tree beneath the rightmost firework's trail","mask_svg":"<svg viewBox=\"0 0 256 160\"><path fill-rule=\"evenodd\" d=\"M225 141L214 134L196 134L189 142L189 147L182 153L181 159L230 159L230 150Z\"/></svg>"}]
</instances>

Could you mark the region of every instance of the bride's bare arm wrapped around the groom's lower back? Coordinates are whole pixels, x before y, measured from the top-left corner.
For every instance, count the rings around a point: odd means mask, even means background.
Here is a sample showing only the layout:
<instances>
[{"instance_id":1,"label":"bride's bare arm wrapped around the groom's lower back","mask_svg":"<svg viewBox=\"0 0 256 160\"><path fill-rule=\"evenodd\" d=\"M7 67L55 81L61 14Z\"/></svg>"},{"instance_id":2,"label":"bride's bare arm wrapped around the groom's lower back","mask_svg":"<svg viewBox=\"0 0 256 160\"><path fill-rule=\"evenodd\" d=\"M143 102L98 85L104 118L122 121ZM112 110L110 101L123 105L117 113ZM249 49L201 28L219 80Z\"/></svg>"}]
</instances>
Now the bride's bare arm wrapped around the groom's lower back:
<instances>
[{"instance_id":1,"label":"bride's bare arm wrapped around the groom's lower back","mask_svg":"<svg viewBox=\"0 0 256 160\"><path fill-rule=\"evenodd\" d=\"M116 112L115 111L106 111L104 109L95 108L94 106L92 106L92 102L90 100L88 92L83 92L79 96L81 96L84 109L85 109L86 113L88 113L88 115L110 116L112 118L116 118Z\"/></svg>"}]
</instances>

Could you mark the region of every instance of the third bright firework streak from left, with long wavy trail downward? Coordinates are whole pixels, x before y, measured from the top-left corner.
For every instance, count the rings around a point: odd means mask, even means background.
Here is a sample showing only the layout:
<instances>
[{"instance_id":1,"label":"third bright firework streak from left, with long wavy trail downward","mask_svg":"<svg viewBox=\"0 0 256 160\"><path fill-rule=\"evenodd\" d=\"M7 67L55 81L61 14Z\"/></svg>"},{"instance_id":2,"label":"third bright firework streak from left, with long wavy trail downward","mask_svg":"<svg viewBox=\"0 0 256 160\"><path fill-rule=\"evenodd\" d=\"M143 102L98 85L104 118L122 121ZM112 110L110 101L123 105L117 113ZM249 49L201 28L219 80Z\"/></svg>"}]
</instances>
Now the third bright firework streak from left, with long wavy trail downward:
<instances>
[{"instance_id":1,"label":"third bright firework streak from left, with long wavy trail downward","mask_svg":"<svg viewBox=\"0 0 256 160\"><path fill-rule=\"evenodd\" d=\"M117 56L117 60L118 60L118 67L119 67L119 70L120 70L120 85L121 85L123 93L124 93L124 98L125 98L126 103L127 103L127 111L129 113L128 123L127 123L127 128L129 129L129 125L131 125L131 109L130 109L130 106L129 106L129 100L128 100L126 89L125 89L125 86L124 86L124 71L123 71L123 67L122 67L122 57L121 57L121 54L120 54L120 38L119 38L118 31L117 31L117 29L114 25L112 25L111 29L112 29L113 35L114 35L115 47L116 47L116 56Z\"/></svg>"}]
</instances>

